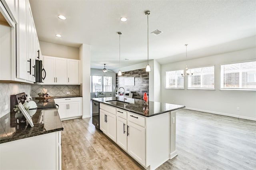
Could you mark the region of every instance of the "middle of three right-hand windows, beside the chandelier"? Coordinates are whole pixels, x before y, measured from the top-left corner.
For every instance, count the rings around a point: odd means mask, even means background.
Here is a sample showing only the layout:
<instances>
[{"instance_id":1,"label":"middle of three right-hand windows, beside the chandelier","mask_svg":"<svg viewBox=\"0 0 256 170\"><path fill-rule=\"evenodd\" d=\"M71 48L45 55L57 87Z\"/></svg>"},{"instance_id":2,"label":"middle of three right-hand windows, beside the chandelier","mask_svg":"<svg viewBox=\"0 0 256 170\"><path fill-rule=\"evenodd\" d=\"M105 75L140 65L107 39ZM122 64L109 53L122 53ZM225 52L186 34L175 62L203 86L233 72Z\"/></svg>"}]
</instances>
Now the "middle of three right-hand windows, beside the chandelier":
<instances>
[{"instance_id":1,"label":"middle of three right-hand windows, beside the chandelier","mask_svg":"<svg viewBox=\"0 0 256 170\"><path fill-rule=\"evenodd\" d=\"M189 69L188 89L214 89L214 66Z\"/></svg>"}]
</instances>

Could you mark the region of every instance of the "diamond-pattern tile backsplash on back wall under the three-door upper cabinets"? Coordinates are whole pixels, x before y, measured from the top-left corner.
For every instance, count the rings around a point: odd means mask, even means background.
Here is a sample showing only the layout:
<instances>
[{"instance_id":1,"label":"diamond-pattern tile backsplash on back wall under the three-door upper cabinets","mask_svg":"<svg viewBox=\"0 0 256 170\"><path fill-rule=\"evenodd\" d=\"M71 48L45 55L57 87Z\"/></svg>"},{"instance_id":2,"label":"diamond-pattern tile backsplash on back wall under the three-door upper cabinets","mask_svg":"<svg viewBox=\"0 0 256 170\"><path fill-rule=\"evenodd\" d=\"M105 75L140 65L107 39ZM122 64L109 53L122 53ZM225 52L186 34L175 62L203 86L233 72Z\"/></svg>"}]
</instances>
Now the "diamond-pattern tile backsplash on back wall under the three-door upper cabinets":
<instances>
[{"instance_id":1,"label":"diamond-pattern tile backsplash on back wall under the three-door upper cabinets","mask_svg":"<svg viewBox=\"0 0 256 170\"><path fill-rule=\"evenodd\" d=\"M70 92L69 95L79 95L80 85L32 85L32 97L38 97L40 89L47 89L50 96L68 96L67 92Z\"/></svg>"}]
</instances>

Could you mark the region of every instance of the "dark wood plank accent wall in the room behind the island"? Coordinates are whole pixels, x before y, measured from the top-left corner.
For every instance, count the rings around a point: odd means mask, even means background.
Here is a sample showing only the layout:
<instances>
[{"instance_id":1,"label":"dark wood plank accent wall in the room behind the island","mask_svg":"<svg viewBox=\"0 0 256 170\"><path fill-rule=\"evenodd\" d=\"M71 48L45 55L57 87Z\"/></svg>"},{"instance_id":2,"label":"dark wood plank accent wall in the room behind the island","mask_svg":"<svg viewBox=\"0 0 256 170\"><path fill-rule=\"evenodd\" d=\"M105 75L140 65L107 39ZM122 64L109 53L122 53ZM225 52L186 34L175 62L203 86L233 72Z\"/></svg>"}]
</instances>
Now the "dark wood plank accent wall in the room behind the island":
<instances>
[{"instance_id":1,"label":"dark wood plank accent wall in the room behind the island","mask_svg":"<svg viewBox=\"0 0 256 170\"><path fill-rule=\"evenodd\" d=\"M124 79L126 77L135 77L135 85L125 85ZM116 87L116 90L119 87L124 87L126 91L133 93L132 98L142 99L144 92L148 94L149 91L149 74L146 72L146 69L122 72L122 76L116 74ZM122 89L120 89L120 91L122 91Z\"/></svg>"}]
</instances>

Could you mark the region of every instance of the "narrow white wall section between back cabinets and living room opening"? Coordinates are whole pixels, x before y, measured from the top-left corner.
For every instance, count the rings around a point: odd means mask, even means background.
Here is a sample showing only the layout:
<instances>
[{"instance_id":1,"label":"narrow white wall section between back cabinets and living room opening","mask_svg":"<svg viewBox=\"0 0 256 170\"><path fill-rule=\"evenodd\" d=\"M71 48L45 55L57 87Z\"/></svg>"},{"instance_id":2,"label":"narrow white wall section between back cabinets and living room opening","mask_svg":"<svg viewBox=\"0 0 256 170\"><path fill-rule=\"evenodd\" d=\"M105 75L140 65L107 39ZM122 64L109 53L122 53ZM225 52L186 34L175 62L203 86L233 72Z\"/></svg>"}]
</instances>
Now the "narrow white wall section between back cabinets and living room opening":
<instances>
[{"instance_id":1,"label":"narrow white wall section between back cabinets and living room opening","mask_svg":"<svg viewBox=\"0 0 256 170\"><path fill-rule=\"evenodd\" d=\"M91 49L90 45L82 44L79 47L79 59L81 60L81 85L80 93L83 96L83 116L91 117L90 106L90 63Z\"/></svg>"}]
</instances>

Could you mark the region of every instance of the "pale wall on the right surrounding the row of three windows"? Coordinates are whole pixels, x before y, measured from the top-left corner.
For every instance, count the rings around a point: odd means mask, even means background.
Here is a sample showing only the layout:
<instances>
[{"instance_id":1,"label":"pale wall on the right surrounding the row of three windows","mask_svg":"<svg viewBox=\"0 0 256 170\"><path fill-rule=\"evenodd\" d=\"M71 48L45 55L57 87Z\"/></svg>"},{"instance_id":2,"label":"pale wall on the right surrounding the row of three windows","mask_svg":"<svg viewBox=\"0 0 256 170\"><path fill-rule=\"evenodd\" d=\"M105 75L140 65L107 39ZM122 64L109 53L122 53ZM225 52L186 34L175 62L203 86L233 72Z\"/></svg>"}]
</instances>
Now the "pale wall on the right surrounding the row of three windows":
<instances>
[{"instance_id":1,"label":"pale wall on the right surrounding the row of three windows","mask_svg":"<svg viewBox=\"0 0 256 170\"><path fill-rule=\"evenodd\" d=\"M255 59L254 47L188 60L189 68L215 65L215 90L188 90L187 77L184 79L185 89L165 89L165 72L185 69L185 61L161 65L161 101L184 105L193 110L256 120L256 91L220 90L220 64ZM240 111L236 110L237 107L240 107Z\"/></svg>"}]
</instances>

